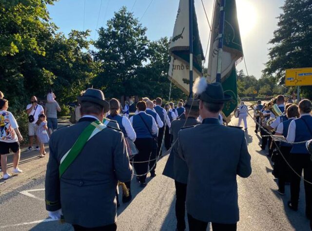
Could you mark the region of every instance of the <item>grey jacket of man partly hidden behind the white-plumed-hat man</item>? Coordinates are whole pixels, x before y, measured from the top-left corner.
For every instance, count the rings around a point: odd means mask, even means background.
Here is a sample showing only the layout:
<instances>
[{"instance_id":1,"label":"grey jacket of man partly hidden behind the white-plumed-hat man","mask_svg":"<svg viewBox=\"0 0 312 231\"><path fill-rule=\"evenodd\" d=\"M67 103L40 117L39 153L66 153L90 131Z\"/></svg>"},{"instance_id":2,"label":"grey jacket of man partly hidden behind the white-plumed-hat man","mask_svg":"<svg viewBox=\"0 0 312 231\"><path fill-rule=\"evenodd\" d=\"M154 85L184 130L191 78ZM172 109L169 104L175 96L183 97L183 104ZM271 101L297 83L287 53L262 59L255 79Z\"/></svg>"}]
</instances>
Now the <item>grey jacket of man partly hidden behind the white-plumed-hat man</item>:
<instances>
[{"instance_id":1,"label":"grey jacket of man partly hidden behind the white-plumed-hat man","mask_svg":"<svg viewBox=\"0 0 312 231\"><path fill-rule=\"evenodd\" d=\"M163 175L173 178L180 183L187 183L187 178L189 175L189 170L187 168L186 162L182 160L177 152L178 142L176 142L178 132L182 127L192 126L196 124L201 124L195 118L190 117L187 120L174 120L171 123L170 131L173 135L173 143L175 144L171 149L169 158L167 160L166 166L163 171Z\"/></svg>"}]
</instances>

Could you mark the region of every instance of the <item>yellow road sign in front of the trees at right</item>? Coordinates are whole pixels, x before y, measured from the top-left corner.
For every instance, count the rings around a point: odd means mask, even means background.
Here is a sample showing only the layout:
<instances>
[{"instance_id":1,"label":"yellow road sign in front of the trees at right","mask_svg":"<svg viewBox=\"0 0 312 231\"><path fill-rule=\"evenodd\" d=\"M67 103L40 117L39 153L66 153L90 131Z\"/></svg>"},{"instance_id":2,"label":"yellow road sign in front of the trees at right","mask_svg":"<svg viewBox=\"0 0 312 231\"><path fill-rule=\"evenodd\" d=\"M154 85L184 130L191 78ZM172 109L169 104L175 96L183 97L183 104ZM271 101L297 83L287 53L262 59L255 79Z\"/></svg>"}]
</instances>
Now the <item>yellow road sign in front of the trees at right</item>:
<instances>
[{"instance_id":1,"label":"yellow road sign in front of the trees at right","mask_svg":"<svg viewBox=\"0 0 312 231\"><path fill-rule=\"evenodd\" d=\"M297 68L286 70L286 86L312 85L312 68Z\"/></svg>"}]
</instances>

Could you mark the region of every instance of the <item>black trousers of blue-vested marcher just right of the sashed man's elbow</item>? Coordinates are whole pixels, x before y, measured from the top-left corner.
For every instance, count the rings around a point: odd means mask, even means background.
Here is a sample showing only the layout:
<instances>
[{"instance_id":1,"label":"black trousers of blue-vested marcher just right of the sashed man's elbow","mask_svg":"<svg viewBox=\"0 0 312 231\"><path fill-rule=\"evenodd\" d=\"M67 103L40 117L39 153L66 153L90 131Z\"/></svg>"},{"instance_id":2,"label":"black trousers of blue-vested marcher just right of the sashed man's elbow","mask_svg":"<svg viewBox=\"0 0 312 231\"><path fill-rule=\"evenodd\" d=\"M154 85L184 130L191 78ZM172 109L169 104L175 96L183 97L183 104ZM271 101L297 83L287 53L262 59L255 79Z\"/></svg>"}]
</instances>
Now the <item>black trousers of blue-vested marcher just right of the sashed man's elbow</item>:
<instances>
[{"instance_id":1,"label":"black trousers of blue-vested marcher just right of the sashed man's elbow","mask_svg":"<svg viewBox=\"0 0 312 231\"><path fill-rule=\"evenodd\" d=\"M137 175L144 175L139 177L141 183L145 183L146 173L148 171L148 160L151 156L153 148L153 139L152 138L137 138L135 141L137 146L138 154L133 157L134 161L143 163L134 163L135 170Z\"/></svg>"}]
</instances>

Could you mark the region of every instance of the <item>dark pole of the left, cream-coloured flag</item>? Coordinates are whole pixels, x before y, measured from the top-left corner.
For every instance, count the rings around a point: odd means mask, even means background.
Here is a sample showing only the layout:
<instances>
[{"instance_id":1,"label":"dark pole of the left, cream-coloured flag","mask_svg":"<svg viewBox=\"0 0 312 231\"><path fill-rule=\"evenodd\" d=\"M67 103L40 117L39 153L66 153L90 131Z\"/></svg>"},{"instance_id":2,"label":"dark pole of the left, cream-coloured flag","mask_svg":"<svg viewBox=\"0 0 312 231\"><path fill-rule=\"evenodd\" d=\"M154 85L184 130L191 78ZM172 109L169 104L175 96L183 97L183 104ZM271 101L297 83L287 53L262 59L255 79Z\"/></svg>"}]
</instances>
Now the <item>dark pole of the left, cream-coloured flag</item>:
<instances>
[{"instance_id":1,"label":"dark pole of the left, cream-coloured flag","mask_svg":"<svg viewBox=\"0 0 312 231\"><path fill-rule=\"evenodd\" d=\"M189 0L190 99L193 98L193 1Z\"/></svg>"}]
</instances>

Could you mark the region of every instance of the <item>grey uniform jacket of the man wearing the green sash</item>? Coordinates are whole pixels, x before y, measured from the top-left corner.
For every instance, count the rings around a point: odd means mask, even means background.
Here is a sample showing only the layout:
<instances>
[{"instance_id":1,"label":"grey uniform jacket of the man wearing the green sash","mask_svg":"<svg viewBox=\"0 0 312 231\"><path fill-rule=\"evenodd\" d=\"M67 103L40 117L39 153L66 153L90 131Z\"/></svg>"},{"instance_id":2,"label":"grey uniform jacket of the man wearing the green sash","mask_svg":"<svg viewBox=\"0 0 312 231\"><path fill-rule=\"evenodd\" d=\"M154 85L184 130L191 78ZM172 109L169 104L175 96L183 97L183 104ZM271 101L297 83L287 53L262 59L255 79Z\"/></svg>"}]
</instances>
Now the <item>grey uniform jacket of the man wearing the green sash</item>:
<instances>
[{"instance_id":1,"label":"grey uniform jacket of the man wearing the green sash","mask_svg":"<svg viewBox=\"0 0 312 231\"><path fill-rule=\"evenodd\" d=\"M59 178L61 158L93 121L81 118L52 134L45 178L46 209L61 208L66 222L90 228L116 222L117 181L130 181L133 174L122 132L106 127L85 144Z\"/></svg>"}]
</instances>

